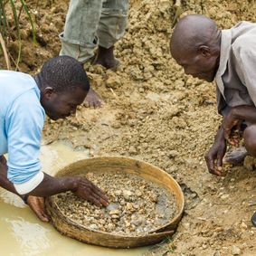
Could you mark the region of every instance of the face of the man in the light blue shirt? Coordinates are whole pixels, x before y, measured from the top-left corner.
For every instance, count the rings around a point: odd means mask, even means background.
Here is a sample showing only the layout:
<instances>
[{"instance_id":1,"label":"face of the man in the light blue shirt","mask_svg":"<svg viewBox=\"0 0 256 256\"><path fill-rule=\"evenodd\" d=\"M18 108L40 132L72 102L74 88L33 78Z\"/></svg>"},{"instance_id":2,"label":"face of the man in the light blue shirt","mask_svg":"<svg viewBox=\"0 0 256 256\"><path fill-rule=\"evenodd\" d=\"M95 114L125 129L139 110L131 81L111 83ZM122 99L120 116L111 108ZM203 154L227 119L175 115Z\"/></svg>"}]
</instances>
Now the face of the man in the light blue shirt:
<instances>
[{"instance_id":1,"label":"face of the man in the light blue shirt","mask_svg":"<svg viewBox=\"0 0 256 256\"><path fill-rule=\"evenodd\" d=\"M43 90L41 103L50 119L64 119L76 112L77 106L81 105L88 91L81 88L55 92L51 88Z\"/></svg>"}]
</instances>

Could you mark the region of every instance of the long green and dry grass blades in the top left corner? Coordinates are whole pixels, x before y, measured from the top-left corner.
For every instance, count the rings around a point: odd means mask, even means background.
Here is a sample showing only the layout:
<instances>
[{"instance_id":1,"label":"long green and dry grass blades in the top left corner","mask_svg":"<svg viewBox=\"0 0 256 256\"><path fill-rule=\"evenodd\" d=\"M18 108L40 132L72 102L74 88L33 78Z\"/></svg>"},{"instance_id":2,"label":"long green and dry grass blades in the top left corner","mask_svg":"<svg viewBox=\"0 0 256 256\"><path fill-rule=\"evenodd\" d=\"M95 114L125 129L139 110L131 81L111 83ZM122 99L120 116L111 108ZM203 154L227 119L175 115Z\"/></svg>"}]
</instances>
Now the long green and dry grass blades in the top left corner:
<instances>
[{"instance_id":1,"label":"long green and dry grass blades in the top left corner","mask_svg":"<svg viewBox=\"0 0 256 256\"><path fill-rule=\"evenodd\" d=\"M8 11L11 11L11 14ZM22 40L20 30L20 17L24 12L32 28L33 43L36 43L36 35L32 16L24 3L24 0L0 0L0 47L5 56L6 68L11 69L10 58L14 62L15 70L21 60ZM13 24L13 25L11 25ZM7 46L11 40L11 34L15 33L18 42L18 54L16 60L8 52Z\"/></svg>"}]
</instances>

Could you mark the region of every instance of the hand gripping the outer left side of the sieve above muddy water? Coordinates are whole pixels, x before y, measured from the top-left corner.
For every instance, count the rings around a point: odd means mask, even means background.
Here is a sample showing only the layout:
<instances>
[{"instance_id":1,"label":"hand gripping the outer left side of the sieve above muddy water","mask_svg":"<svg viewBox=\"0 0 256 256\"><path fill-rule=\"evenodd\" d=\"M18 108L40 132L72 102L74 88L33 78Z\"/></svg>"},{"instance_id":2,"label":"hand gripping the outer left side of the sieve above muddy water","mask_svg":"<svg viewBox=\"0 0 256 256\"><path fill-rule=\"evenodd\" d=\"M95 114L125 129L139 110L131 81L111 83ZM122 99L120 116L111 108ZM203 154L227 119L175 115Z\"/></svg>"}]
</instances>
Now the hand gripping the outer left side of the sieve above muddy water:
<instances>
[{"instance_id":1,"label":"hand gripping the outer left side of the sieve above muddy water","mask_svg":"<svg viewBox=\"0 0 256 256\"><path fill-rule=\"evenodd\" d=\"M50 222L50 216L45 211L43 197L29 195L27 198L27 204L41 221L45 223Z\"/></svg>"}]
</instances>

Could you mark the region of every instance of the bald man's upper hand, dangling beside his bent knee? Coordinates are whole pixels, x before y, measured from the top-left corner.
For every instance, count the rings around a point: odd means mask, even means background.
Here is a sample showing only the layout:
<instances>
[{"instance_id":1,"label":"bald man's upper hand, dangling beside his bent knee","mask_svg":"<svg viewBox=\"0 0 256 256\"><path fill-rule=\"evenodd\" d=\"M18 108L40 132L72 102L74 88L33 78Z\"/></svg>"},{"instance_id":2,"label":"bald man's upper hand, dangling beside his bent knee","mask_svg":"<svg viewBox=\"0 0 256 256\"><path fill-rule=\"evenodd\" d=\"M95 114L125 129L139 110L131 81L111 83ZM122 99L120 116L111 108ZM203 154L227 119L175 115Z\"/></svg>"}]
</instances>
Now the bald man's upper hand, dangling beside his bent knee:
<instances>
[{"instance_id":1,"label":"bald man's upper hand, dangling beside his bent knee","mask_svg":"<svg viewBox=\"0 0 256 256\"><path fill-rule=\"evenodd\" d=\"M235 137L232 135L232 128L237 127L240 131L242 125L242 119L237 119L233 115L232 108L226 117L223 119L223 130L224 130L224 137L225 139L231 144L232 146L238 147L239 146L239 137Z\"/></svg>"}]
</instances>

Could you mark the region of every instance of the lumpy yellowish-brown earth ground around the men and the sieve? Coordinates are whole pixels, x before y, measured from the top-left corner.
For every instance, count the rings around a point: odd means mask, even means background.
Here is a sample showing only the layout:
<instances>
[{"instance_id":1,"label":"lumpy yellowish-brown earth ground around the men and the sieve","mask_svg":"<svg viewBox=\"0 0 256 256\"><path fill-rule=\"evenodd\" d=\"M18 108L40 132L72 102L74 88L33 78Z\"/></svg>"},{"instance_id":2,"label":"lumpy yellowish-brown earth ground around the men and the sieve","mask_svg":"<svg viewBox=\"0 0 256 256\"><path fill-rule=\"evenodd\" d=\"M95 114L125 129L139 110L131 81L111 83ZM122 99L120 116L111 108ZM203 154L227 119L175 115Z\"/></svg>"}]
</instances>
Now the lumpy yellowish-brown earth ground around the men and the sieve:
<instances>
[{"instance_id":1,"label":"lumpy yellowish-brown earth ground around the men and the sieve","mask_svg":"<svg viewBox=\"0 0 256 256\"><path fill-rule=\"evenodd\" d=\"M58 55L68 1L27 1L36 20L38 45L24 22L21 71L35 73ZM47 121L43 137L68 140L90 156L132 156L173 175L185 192L185 215L170 242L149 255L256 255L256 175L253 168L225 167L225 177L208 174L204 154L220 124L215 84L185 76L169 53L174 1L131 0L129 24L116 45L119 71L88 65L91 85L105 105L81 106L76 117ZM256 22L254 1L182 1L181 14L206 14L221 28ZM10 43L11 52L17 43ZM3 68L3 66L2 66ZM255 198L256 199L256 198ZM252 202L253 203L253 202Z\"/></svg>"}]
</instances>

